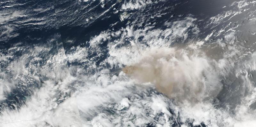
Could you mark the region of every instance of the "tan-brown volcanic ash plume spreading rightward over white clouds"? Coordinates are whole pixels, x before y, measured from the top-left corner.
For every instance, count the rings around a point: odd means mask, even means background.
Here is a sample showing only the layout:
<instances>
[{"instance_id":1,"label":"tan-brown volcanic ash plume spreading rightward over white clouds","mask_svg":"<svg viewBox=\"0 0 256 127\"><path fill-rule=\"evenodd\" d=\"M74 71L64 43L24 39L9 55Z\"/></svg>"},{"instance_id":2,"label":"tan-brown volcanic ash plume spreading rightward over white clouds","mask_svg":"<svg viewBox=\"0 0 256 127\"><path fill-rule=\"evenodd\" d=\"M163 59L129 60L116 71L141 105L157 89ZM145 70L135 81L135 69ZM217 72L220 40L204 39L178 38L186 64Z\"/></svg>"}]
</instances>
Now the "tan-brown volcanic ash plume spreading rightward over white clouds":
<instances>
[{"instance_id":1,"label":"tan-brown volcanic ash plume spreading rightward over white clouds","mask_svg":"<svg viewBox=\"0 0 256 127\"><path fill-rule=\"evenodd\" d=\"M200 101L216 96L221 89L214 63L199 52L151 48L123 71L137 83L155 84L169 98Z\"/></svg>"}]
</instances>

